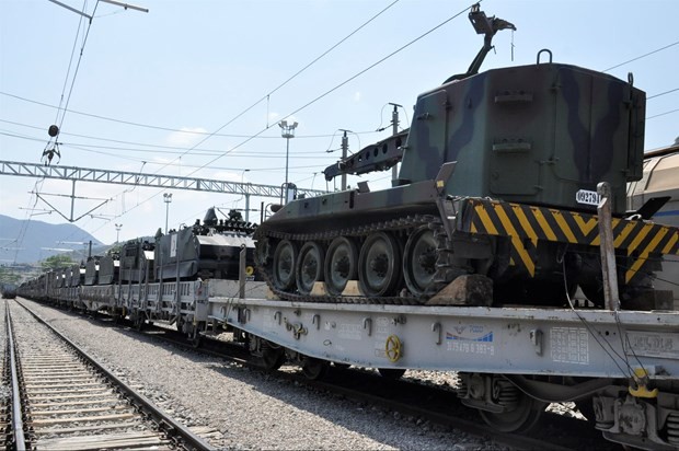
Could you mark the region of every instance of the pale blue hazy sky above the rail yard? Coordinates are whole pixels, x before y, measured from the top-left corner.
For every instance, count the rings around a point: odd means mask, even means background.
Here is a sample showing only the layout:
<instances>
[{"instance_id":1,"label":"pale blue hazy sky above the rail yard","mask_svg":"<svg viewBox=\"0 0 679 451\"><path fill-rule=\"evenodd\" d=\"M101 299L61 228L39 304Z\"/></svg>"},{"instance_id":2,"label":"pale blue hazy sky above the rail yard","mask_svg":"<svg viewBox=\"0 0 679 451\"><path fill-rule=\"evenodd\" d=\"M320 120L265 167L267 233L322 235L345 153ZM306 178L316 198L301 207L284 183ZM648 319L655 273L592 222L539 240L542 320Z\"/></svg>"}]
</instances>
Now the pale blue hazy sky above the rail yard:
<instances>
[{"instance_id":1,"label":"pale blue hazy sky above the rail yard","mask_svg":"<svg viewBox=\"0 0 679 451\"><path fill-rule=\"evenodd\" d=\"M326 184L322 171L341 157L338 130L350 130L349 151L388 137L390 102L408 127L417 94L464 72L483 42L467 19L472 2L457 0L130 2L148 13L60 1L92 22L48 0L0 0L0 160L42 164L57 124L53 165L280 186L287 119L299 124L289 181L335 189L340 181ZM633 72L652 97L645 148L679 136L678 1L484 0L481 9L517 27L495 36L482 70L534 63L549 48L555 62L623 80ZM348 183L387 187L390 174ZM71 189L0 175L0 213L62 223ZM152 235L165 219L192 224L212 206L245 208L233 194L83 182L76 197L74 223L103 243ZM251 198L250 220L277 201ZM0 231L0 246L12 239Z\"/></svg>"}]
</instances>

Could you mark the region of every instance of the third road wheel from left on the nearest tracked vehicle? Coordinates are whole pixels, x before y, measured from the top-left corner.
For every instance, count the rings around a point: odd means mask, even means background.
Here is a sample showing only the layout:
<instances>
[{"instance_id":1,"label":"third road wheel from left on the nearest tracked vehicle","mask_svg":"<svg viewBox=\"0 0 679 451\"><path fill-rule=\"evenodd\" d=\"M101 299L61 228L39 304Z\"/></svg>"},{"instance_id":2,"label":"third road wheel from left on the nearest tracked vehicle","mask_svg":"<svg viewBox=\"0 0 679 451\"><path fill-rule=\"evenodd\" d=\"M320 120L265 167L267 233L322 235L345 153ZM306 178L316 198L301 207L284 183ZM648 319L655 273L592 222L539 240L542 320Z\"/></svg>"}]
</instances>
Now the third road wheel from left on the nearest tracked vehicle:
<instances>
[{"instance_id":1,"label":"third road wheel from left on the nearest tracked vehicle","mask_svg":"<svg viewBox=\"0 0 679 451\"><path fill-rule=\"evenodd\" d=\"M325 254L325 288L333 296L340 296L346 282L356 279L358 268L358 250L356 244L345 236L336 238L330 243Z\"/></svg>"}]
</instances>

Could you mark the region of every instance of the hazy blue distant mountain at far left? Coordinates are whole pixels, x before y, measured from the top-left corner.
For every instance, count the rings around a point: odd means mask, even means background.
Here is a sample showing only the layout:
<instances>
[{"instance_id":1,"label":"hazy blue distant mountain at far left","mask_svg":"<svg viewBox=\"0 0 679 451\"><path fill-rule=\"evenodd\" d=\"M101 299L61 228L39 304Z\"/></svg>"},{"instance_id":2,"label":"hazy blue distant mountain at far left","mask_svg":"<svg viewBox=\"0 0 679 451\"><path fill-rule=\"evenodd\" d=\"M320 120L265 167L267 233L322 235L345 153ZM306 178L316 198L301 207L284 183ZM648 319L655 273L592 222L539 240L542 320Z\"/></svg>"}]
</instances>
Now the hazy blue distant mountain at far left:
<instances>
[{"instance_id":1,"label":"hazy blue distant mountain at far left","mask_svg":"<svg viewBox=\"0 0 679 451\"><path fill-rule=\"evenodd\" d=\"M72 258L80 261L87 257L89 247L82 243L90 241L92 255L101 252L101 242L78 226L49 224L0 215L0 265L35 263L69 250L76 251Z\"/></svg>"}]
</instances>

